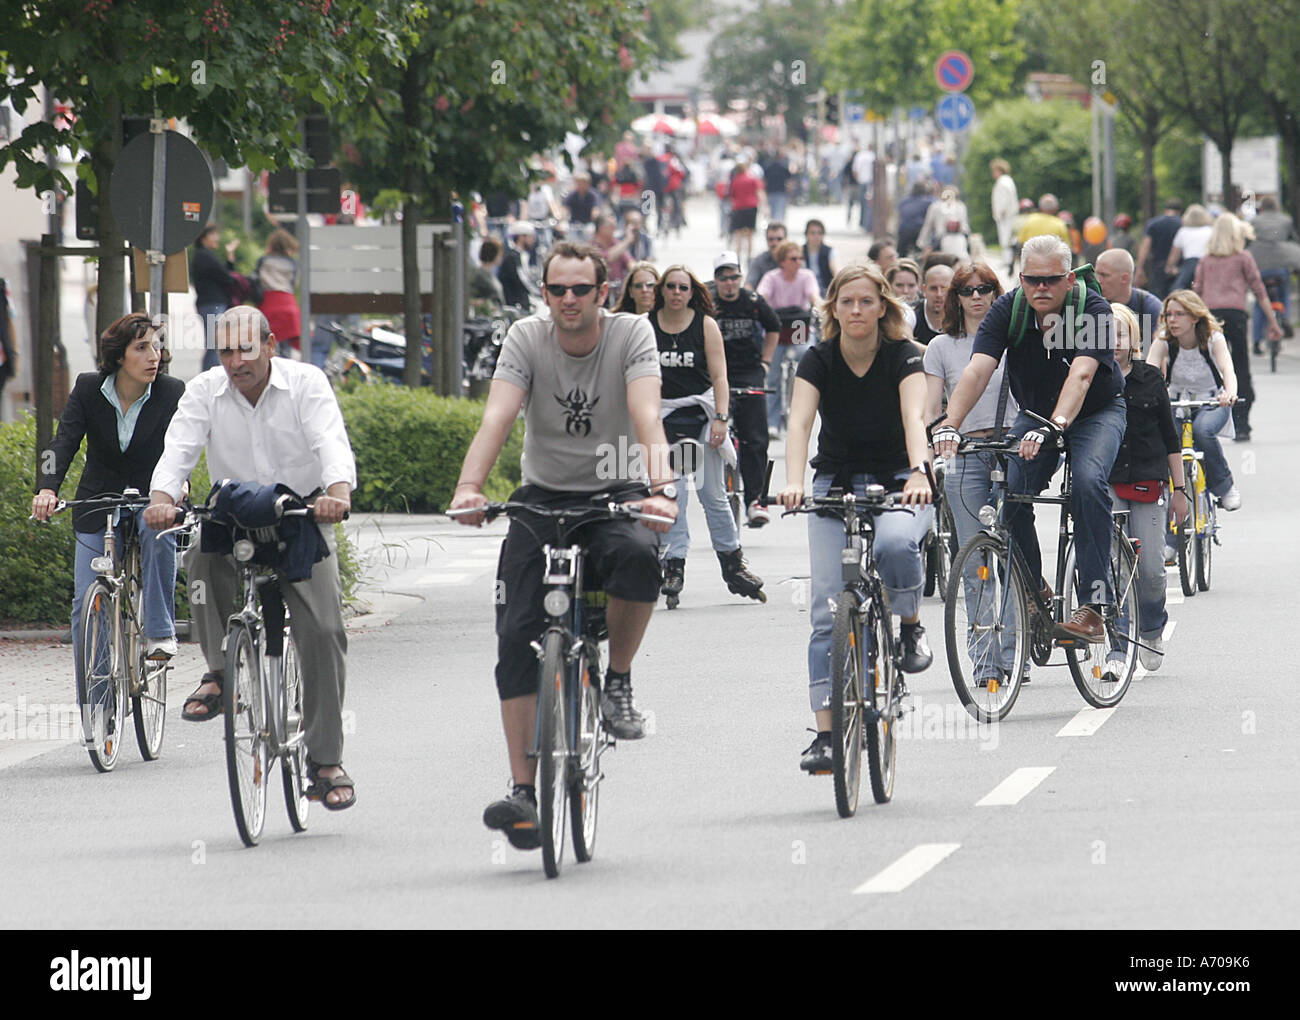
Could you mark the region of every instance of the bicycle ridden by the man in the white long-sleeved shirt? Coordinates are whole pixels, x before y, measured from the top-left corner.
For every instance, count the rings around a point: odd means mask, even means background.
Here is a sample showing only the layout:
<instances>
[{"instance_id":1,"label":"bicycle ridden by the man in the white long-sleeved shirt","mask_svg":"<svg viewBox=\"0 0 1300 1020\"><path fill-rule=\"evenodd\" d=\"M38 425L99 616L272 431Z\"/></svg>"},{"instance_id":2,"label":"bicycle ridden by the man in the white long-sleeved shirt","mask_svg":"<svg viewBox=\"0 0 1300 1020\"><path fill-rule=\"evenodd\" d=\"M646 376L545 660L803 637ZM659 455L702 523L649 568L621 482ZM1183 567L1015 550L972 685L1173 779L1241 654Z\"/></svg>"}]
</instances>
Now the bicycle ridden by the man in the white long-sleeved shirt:
<instances>
[{"instance_id":1,"label":"bicycle ridden by the man in the white long-sleeved shirt","mask_svg":"<svg viewBox=\"0 0 1300 1020\"><path fill-rule=\"evenodd\" d=\"M311 507L292 494L278 496L274 516L277 521L313 520ZM240 608L228 618L222 641L221 700L230 806L239 838L251 847L257 845L266 821L266 778L276 759L289 824L295 833L307 829L311 800L302 664L280 581L269 565L278 551L278 524L251 528L217 515L211 505L192 507L179 525L159 534L192 531L209 522L230 531L239 573Z\"/></svg>"}]
</instances>

